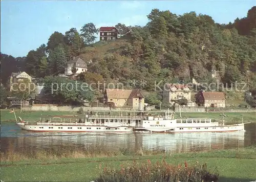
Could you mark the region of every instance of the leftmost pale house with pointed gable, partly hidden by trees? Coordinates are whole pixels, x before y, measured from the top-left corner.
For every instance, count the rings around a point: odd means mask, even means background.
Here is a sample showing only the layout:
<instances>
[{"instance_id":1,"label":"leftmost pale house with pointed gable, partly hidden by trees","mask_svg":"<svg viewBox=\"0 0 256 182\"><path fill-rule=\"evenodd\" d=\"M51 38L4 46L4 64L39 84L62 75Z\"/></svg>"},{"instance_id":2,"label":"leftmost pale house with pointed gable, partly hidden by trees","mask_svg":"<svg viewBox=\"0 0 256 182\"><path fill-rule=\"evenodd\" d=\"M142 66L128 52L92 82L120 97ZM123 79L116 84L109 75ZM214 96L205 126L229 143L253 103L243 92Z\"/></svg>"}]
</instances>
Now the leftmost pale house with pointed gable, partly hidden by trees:
<instances>
[{"instance_id":1,"label":"leftmost pale house with pointed gable, partly hidden by trees","mask_svg":"<svg viewBox=\"0 0 256 182\"><path fill-rule=\"evenodd\" d=\"M8 78L7 87L11 91L14 83L24 81L25 79L31 82L32 77L29 76L26 72L12 73L11 76Z\"/></svg>"}]
</instances>

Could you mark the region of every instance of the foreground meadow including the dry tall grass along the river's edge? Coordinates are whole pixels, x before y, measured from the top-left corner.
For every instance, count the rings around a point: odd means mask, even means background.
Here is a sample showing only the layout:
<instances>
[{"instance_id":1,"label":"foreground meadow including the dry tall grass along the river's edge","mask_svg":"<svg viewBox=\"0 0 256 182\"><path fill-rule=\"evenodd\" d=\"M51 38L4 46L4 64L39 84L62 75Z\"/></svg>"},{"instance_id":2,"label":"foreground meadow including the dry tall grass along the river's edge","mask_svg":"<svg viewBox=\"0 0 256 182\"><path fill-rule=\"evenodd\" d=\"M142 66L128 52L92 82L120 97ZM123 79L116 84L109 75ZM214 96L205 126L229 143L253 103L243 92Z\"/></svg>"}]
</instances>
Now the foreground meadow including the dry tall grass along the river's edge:
<instances>
[{"instance_id":1,"label":"foreground meadow including the dry tall grass along the river's edge","mask_svg":"<svg viewBox=\"0 0 256 182\"><path fill-rule=\"evenodd\" d=\"M131 153L126 150L120 150L117 153L98 152L95 154L82 151L66 154L63 152L59 152L59 154L41 152L35 153L34 156L30 157L24 156L25 158L19 157L18 153L1 153L1 180L91 181L99 179L99 181L104 181L100 179L111 177L113 170L121 173L123 169L127 170L129 167L136 165L139 167L143 164L148 164L150 161L152 164L163 165L166 163L169 166L176 167L181 164L180 166L183 166L183 168L184 163L189 167L206 164L209 173L219 175L218 181L248 182L256 180L255 153L256 146L241 148L238 151L230 149L168 154L152 151ZM136 165L134 165L135 163ZM107 171L112 172L108 173Z\"/></svg>"}]
</instances>

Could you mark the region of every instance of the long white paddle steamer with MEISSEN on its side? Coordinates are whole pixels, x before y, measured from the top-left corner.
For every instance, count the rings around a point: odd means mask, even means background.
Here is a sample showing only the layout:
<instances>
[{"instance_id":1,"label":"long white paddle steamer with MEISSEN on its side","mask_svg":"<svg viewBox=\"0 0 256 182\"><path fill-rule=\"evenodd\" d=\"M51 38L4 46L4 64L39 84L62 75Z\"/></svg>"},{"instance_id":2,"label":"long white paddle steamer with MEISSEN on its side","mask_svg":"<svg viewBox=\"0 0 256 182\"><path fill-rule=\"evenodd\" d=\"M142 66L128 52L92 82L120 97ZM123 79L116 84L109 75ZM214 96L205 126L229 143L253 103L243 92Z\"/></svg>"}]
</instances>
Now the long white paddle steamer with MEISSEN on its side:
<instances>
[{"instance_id":1,"label":"long white paddle steamer with MEISSEN on its side","mask_svg":"<svg viewBox=\"0 0 256 182\"><path fill-rule=\"evenodd\" d=\"M164 116L141 112L139 116L55 116L40 118L36 123L25 122L21 118L19 120L16 120L16 124L20 128L36 132L227 132L244 130L245 124L225 125L224 120L219 123L208 118L174 119L172 111L166 111Z\"/></svg>"}]
</instances>

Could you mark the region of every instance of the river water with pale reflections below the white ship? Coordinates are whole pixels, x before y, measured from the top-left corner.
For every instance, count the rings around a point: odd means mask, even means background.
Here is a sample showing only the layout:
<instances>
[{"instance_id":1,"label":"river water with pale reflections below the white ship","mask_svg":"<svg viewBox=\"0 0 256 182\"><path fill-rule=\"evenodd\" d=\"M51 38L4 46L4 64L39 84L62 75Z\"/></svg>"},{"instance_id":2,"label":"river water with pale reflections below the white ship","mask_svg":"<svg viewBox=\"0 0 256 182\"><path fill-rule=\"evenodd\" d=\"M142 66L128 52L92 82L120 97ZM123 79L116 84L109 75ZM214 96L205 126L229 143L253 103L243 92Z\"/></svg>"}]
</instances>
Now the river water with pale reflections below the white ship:
<instances>
[{"instance_id":1,"label":"river water with pale reflections below the white ship","mask_svg":"<svg viewBox=\"0 0 256 182\"><path fill-rule=\"evenodd\" d=\"M28 132L21 130L15 123L1 122L1 152L39 151L41 149L87 148L101 146L104 150L118 151L120 148L138 151L147 150L166 152L209 151L246 147L256 144L256 124L247 124L246 131L214 133L59 133Z\"/></svg>"}]
</instances>

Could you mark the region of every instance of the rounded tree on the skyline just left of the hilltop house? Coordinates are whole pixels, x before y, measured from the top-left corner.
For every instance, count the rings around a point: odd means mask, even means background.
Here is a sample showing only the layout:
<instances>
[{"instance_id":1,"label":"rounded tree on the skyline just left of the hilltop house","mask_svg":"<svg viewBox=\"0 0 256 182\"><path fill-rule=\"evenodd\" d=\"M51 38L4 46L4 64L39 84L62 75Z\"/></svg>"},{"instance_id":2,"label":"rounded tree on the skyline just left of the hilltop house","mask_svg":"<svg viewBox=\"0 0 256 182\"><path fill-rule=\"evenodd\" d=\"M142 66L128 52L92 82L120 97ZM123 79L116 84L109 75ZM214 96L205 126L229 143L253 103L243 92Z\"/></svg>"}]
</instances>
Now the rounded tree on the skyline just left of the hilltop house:
<instances>
[{"instance_id":1,"label":"rounded tree on the skyline just left of the hilltop house","mask_svg":"<svg viewBox=\"0 0 256 182\"><path fill-rule=\"evenodd\" d=\"M83 40L87 45L93 43L96 40L95 34L98 34L99 32L99 30L96 29L95 25L92 22L84 25L80 31L81 36L83 37Z\"/></svg>"}]
</instances>

